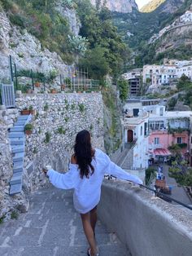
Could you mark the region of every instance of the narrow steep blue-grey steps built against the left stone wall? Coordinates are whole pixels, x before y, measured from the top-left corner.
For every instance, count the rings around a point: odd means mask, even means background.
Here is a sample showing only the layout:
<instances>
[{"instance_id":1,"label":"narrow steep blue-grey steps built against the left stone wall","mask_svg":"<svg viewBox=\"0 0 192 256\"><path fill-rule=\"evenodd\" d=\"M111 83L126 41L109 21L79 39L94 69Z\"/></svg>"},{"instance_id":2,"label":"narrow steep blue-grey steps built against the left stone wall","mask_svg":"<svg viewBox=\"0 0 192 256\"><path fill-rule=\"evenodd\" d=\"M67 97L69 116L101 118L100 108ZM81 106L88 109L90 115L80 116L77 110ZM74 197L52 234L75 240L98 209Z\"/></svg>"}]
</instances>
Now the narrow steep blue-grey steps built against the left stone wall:
<instances>
[{"instance_id":1,"label":"narrow steep blue-grey steps built against the left stone wall","mask_svg":"<svg viewBox=\"0 0 192 256\"><path fill-rule=\"evenodd\" d=\"M28 123L28 121L30 121L30 119L31 115L18 117L9 133L11 152L13 154L13 175L10 180L9 192L11 196L20 193L22 190L25 145L24 126Z\"/></svg>"}]
</instances>

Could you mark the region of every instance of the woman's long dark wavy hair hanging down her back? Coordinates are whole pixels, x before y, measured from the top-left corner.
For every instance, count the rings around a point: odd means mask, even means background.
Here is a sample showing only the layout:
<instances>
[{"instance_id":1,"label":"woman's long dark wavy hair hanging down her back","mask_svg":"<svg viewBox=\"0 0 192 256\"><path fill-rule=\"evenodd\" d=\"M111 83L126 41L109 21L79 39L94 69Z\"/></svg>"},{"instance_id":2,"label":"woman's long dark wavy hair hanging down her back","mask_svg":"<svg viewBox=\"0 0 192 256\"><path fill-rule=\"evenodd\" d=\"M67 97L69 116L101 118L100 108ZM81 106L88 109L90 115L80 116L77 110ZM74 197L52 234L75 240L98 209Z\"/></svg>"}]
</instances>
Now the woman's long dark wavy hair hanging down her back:
<instances>
[{"instance_id":1,"label":"woman's long dark wavy hair hanging down her back","mask_svg":"<svg viewBox=\"0 0 192 256\"><path fill-rule=\"evenodd\" d=\"M77 165L80 169L81 179L83 179L84 175L86 178L89 178L90 170L91 175L94 173L94 166L91 165L91 161L94 157L94 150L91 147L90 134L88 130L81 130L76 135L74 152Z\"/></svg>"}]
</instances>

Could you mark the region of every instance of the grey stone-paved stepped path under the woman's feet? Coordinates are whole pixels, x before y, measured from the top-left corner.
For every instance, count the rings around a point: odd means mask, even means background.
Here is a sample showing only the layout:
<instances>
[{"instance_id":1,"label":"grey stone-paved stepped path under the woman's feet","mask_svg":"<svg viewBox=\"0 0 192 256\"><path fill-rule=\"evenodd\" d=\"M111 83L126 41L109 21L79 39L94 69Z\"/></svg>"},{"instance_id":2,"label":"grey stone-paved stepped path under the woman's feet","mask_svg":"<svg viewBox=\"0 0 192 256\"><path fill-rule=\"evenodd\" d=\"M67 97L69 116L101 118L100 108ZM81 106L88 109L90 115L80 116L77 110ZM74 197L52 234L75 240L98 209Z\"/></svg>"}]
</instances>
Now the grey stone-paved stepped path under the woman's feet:
<instances>
[{"instance_id":1,"label":"grey stone-paved stepped path under the woman's feet","mask_svg":"<svg viewBox=\"0 0 192 256\"><path fill-rule=\"evenodd\" d=\"M0 225L1 256L81 256L88 248L80 215L72 205L72 191L43 188L29 198L27 214ZM100 256L130 256L115 233L98 221Z\"/></svg>"}]
</instances>

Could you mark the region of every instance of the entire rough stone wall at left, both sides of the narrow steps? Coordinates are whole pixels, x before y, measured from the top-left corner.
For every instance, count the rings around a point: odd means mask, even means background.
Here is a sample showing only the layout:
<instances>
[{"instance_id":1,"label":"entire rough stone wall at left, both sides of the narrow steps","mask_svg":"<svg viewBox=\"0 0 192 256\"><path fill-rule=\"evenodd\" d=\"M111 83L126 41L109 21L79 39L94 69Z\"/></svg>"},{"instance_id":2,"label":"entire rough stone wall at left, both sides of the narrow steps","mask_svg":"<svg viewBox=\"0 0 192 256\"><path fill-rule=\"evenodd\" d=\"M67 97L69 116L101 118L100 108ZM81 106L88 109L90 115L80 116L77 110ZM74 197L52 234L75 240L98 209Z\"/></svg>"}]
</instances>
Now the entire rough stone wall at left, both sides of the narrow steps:
<instances>
[{"instance_id":1,"label":"entire rough stone wall at left, both sides of the narrow steps","mask_svg":"<svg viewBox=\"0 0 192 256\"><path fill-rule=\"evenodd\" d=\"M12 211L28 210L28 192L48 183L42 167L67 171L76 133L91 132L95 148L104 149L103 98L100 93L34 94L16 98L15 109L0 110L0 220L10 218ZM12 176L12 154L8 138L23 108L33 107L32 135L26 135L23 191L9 196Z\"/></svg>"}]
</instances>

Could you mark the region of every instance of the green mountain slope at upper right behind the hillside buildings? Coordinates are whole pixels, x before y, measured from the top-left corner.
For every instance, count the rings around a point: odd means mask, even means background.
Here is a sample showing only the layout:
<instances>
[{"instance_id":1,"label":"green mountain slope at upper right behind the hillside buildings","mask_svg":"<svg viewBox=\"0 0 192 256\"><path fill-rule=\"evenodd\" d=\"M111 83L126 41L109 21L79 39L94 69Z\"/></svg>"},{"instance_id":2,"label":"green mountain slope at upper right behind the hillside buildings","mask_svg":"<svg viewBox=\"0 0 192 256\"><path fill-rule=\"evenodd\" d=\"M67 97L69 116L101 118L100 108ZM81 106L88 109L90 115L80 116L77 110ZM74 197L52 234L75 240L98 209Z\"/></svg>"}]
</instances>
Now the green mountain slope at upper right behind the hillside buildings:
<instances>
[{"instance_id":1,"label":"green mountain slope at upper right behind the hillside buildings","mask_svg":"<svg viewBox=\"0 0 192 256\"><path fill-rule=\"evenodd\" d=\"M155 11L149 13L142 13L138 11L133 11L129 14L113 13L113 20L116 24L119 33L124 37L124 41L132 48L133 55L132 60L135 60L134 67L142 67L143 64L152 64L159 62L162 58L168 58L174 56L179 49L179 58L189 53L190 51L190 39L191 32L186 29L185 34L180 34L181 37L187 39L187 44L182 43L180 37L177 37L176 30L174 33L174 40L177 44L172 44L171 54L166 55L166 49L161 46L161 41L163 38L159 38L159 41L148 44L151 37L158 34L161 29L172 24L174 20L177 20L181 15L185 14L185 11L190 10L191 0L167 0L163 2ZM171 42L172 36L168 37L168 42ZM165 39L166 41L166 39ZM164 42L162 41L162 44ZM175 46L179 46L174 48ZM165 51L165 54L164 54ZM159 53L159 54L158 54ZM190 51L190 55L192 51ZM130 61L130 64L132 61ZM130 66L129 66L130 67ZM129 68L128 67L128 68ZM131 64L131 68L133 65Z\"/></svg>"}]
</instances>

